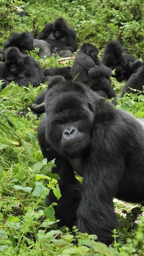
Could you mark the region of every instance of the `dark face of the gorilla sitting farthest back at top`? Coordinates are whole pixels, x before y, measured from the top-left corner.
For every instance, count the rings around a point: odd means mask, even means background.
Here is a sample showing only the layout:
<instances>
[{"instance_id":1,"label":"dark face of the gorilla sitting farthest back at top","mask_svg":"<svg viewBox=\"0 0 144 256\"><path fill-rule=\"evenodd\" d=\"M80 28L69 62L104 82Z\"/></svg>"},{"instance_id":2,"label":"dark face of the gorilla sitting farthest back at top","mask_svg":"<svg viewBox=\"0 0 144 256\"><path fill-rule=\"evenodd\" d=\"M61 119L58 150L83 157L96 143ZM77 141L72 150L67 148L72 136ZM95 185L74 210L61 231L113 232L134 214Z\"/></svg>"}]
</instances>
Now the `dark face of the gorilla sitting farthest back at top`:
<instances>
[{"instance_id":1,"label":"dark face of the gorilla sitting farthest back at top","mask_svg":"<svg viewBox=\"0 0 144 256\"><path fill-rule=\"evenodd\" d=\"M66 31L67 31L67 26L63 21L57 20L54 22L52 27L52 33L56 39L64 38L66 35Z\"/></svg>"}]
</instances>

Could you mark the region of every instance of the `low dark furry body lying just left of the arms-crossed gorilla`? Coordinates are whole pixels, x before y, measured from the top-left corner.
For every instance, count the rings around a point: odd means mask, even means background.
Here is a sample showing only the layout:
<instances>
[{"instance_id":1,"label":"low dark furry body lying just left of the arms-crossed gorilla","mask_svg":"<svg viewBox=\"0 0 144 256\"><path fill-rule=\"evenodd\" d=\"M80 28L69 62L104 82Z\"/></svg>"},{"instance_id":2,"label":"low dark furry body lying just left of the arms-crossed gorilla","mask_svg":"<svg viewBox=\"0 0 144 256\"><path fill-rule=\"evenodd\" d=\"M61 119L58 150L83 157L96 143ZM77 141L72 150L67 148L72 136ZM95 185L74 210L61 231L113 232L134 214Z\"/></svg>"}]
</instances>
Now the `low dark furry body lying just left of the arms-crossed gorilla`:
<instances>
[{"instance_id":1,"label":"low dark furry body lying just left of the arms-crossed gorilla","mask_svg":"<svg viewBox=\"0 0 144 256\"><path fill-rule=\"evenodd\" d=\"M49 81L49 78L51 76L64 76L66 80L72 79L71 75L71 67L62 67L62 68L48 68L43 71L43 74L45 76L44 81Z\"/></svg>"}]
</instances>

